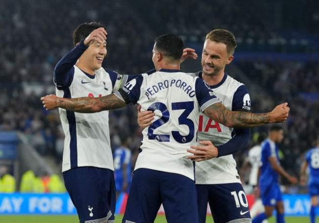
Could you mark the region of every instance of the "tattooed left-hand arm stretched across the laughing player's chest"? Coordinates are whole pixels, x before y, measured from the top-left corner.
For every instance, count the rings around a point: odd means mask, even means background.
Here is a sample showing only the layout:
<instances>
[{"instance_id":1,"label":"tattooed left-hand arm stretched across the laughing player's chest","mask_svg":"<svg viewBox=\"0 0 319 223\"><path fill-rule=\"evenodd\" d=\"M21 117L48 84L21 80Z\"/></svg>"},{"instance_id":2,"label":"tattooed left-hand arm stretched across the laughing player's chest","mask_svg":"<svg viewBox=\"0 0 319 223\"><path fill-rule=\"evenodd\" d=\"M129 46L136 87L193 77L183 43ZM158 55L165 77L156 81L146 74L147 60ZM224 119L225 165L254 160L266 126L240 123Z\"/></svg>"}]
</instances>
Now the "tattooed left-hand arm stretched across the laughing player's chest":
<instances>
[{"instance_id":1,"label":"tattooed left-hand arm stretched across the laughing player's chest","mask_svg":"<svg viewBox=\"0 0 319 223\"><path fill-rule=\"evenodd\" d=\"M95 113L104 110L122 108L126 105L125 101L118 98L114 94L110 94L99 98L77 98L65 99L58 98L55 95L49 95L41 98L43 107L46 110L53 110L57 107L65 110L75 111L80 113Z\"/></svg>"}]
</instances>

